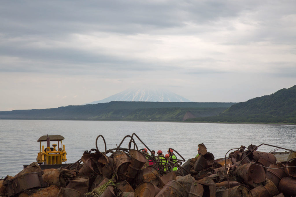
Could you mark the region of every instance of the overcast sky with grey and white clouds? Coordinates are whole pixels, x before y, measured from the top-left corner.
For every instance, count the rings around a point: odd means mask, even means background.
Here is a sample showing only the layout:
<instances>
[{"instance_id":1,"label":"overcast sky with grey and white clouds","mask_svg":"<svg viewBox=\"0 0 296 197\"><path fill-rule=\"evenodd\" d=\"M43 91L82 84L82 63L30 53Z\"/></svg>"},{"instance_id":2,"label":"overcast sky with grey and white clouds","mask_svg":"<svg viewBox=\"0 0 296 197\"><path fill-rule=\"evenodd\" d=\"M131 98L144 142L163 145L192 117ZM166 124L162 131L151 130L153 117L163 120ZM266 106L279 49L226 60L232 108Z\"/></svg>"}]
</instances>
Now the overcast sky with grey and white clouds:
<instances>
[{"instance_id":1,"label":"overcast sky with grey and white clouds","mask_svg":"<svg viewBox=\"0 0 296 197\"><path fill-rule=\"evenodd\" d=\"M162 87L243 102L296 85L295 0L2 1L0 111Z\"/></svg>"}]
</instances>

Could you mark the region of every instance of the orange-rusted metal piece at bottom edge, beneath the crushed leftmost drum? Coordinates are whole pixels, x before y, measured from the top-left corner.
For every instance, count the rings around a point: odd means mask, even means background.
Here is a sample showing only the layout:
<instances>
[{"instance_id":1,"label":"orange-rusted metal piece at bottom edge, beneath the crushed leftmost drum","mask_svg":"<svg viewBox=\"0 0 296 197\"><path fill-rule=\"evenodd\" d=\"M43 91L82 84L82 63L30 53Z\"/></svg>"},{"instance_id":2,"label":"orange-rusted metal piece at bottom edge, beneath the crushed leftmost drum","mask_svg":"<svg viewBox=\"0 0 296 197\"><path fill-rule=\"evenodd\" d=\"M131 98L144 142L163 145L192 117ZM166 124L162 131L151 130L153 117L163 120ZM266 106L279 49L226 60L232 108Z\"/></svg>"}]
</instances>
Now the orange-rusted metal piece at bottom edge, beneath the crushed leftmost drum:
<instances>
[{"instance_id":1,"label":"orange-rusted metal piece at bottom edge, beneath the crushed leftmost drum","mask_svg":"<svg viewBox=\"0 0 296 197\"><path fill-rule=\"evenodd\" d=\"M59 193L59 188L55 185L51 185L47 188L41 188L38 190L31 190L29 192L23 192L18 195L18 197L40 197L40 196L46 196L46 197L57 197ZM74 197L74 196L71 196Z\"/></svg>"}]
</instances>

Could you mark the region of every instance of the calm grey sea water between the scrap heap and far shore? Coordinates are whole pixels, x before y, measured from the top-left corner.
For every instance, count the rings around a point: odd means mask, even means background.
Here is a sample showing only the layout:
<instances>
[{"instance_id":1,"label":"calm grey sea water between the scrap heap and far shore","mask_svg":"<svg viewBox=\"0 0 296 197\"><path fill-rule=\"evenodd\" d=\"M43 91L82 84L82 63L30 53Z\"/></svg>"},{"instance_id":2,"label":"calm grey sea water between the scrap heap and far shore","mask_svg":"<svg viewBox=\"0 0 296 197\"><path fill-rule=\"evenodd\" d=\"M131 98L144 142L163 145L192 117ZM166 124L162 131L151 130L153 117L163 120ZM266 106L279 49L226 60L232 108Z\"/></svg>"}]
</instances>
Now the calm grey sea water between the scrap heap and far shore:
<instances>
[{"instance_id":1,"label":"calm grey sea water between the scrap heap and far shore","mask_svg":"<svg viewBox=\"0 0 296 197\"><path fill-rule=\"evenodd\" d=\"M215 159L225 156L231 148L251 143L271 144L295 150L295 125L248 125L176 122L119 122L119 121L61 121L61 120L0 120L0 178L14 176L36 161L38 138L42 135L62 135L67 151L67 163L76 162L85 150L96 148L98 135L103 135L107 149L116 148L126 135L136 133L151 149L166 152L173 148L185 160L197 154L199 143ZM128 148L127 138L121 147ZM136 139L139 148L144 148ZM46 143L44 143L46 146ZM51 143L52 145L52 143ZM104 151L102 138L98 148ZM271 146L260 146L258 151L271 151ZM284 150L281 150L284 151ZM179 157L178 157L179 158Z\"/></svg>"}]
</instances>

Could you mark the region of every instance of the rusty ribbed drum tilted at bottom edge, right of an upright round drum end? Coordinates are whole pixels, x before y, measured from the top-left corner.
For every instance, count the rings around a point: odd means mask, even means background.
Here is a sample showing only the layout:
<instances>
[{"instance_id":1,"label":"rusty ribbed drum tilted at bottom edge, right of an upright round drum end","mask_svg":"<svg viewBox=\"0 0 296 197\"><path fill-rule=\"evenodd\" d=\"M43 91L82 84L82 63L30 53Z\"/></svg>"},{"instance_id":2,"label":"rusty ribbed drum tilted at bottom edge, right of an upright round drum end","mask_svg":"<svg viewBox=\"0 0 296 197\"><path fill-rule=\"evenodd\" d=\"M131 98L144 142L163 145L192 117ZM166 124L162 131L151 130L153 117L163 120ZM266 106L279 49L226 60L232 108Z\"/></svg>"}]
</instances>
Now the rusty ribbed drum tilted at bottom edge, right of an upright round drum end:
<instances>
[{"instance_id":1,"label":"rusty ribbed drum tilted at bottom edge, right of an upright round drum end","mask_svg":"<svg viewBox=\"0 0 296 197\"><path fill-rule=\"evenodd\" d=\"M187 197L183 186L175 180L170 180L155 197Z\"/></svg>"}]
</instances>

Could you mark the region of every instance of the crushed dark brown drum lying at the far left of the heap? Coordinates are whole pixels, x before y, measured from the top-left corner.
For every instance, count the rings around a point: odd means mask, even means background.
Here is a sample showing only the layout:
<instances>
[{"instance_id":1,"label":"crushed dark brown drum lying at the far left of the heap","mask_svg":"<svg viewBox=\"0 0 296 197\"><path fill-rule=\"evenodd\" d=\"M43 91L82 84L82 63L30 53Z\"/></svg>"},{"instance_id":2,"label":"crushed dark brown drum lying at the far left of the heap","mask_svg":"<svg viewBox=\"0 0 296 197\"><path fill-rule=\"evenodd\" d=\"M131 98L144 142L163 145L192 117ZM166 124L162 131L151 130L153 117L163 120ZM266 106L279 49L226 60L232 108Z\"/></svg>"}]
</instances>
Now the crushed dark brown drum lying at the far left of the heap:
<instances>
[{"instance_id":1,"label":"crushed dark brown drum lying at the far left of the heap","mask_svg":"<svg viewBox=\"0 0 296 197\"><path fill-rule=\"evenodd\" d=\"M31 188L47 187L47 184L42 179L42 175L43 171L30 172L16 176L9 180L6 179L7 177L5 177L3 185L7 190L7 196L13 196Z\"/></svg>"}]
</instances>

